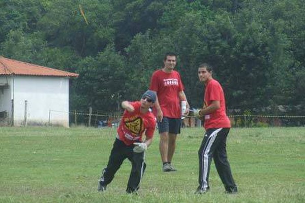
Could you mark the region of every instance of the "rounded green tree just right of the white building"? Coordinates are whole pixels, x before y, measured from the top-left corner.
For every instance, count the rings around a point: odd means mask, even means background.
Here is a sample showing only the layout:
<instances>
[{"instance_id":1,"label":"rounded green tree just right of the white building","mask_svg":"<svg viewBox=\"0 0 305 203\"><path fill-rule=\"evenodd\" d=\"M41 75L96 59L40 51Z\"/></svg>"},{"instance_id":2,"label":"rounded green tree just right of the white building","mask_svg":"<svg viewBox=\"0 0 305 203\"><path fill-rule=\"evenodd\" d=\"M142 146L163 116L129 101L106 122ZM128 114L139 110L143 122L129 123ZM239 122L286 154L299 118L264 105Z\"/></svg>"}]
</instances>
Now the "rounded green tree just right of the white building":
<instances>
[{"instance_id":1,"label":"rounded green tree just right of the white building","mask_svg":"<svg viewBox=\"0 0 305 203\"><path fill-rule=\"evenodd\" d=\"M79 78L73 91L75 100L72 108L87 110L92 107L104 112L118 110L121 99L126 95L125 58L108 46L96 57L86 57L78 64Z\"/></svg>"}]
</instances>

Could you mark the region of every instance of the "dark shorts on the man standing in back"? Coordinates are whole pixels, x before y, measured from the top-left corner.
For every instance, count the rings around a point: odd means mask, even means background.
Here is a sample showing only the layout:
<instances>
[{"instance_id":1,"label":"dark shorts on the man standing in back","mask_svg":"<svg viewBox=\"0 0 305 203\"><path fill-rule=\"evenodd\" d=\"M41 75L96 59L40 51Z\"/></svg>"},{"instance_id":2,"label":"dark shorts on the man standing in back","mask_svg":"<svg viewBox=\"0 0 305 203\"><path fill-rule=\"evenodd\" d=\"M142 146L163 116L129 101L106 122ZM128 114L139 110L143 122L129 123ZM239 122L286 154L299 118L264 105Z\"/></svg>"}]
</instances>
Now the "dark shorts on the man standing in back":
<instances>
[{"instance_id":1,"label":"dark shorts on the man standing in back","mask_svg":"<svg viewBox=\"0 0 305 203\"><path fill-rule=\"evenodd\" d=\"M159 133L169 132L172 134L179 134L181 128L180 118L163 117L162 122L158 122Z\"/></svg>"}]
</instances>

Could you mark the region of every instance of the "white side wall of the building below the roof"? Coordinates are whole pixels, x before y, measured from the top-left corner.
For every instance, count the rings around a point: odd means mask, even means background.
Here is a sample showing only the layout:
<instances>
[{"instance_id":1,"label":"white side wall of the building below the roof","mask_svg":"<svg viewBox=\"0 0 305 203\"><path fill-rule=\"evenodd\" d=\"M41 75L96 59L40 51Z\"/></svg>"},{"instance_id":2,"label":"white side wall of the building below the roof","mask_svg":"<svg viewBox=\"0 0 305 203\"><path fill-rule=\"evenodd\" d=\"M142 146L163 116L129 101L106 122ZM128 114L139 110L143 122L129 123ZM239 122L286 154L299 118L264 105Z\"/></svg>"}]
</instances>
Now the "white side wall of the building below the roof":
<instances>
[{"instance_id":1,"label":"white side wall of the building below the roof","mask_svg":"<svg viewBox=\"0 0 305 203\"><path fill-rule=\"evenodd\" d=\"M14 125L24 125L25 100L28 125L69 126L69 78L13 76ZM49 119L50 117L50 119Z\"/></svg>"}]
</instances>

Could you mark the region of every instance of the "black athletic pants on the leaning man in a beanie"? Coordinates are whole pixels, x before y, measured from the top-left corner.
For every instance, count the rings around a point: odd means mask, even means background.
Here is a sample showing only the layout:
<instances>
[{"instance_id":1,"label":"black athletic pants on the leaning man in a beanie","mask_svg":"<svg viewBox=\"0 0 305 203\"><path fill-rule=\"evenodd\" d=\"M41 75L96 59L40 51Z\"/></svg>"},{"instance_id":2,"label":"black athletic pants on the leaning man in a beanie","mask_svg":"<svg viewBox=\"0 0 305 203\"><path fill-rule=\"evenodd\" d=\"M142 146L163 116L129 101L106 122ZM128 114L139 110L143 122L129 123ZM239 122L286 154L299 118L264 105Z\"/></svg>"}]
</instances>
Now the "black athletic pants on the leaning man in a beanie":
<instances>
[{"instance_id":1,"label":"black athletic pants on the leaning man in a beanie","mask_svg":"<svg viewBox=\"0 0 305 203\"><path fill-rule=\"evenodd\" d=\"M123 161L128 158L131 161L132 168L126 191L135 192L139 189L141 178L144 174L146 163L144 162L144 152L135 153L134 146L127 146L124 142L115 139L113 148L109 157L107 167L103 169L100 182L107 186L114 178L114 174L119 169Z\"/></svg>"}]
</instances>

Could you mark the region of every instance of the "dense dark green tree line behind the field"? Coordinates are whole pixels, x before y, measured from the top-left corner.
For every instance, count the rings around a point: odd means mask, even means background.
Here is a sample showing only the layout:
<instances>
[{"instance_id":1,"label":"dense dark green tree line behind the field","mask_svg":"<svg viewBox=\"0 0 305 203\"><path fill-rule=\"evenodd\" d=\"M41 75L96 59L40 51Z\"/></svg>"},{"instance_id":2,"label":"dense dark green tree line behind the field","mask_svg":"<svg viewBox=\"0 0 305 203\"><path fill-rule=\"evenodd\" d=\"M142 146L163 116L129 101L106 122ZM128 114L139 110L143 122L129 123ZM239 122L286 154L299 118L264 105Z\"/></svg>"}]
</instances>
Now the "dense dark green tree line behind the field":
<instances>
[{"instance_id":1,"label":"dense dark green tree line behind the field","mask_svg":"<svg viewBox=\"0 0 305 203\"><path fill-rule=\"evenodd\" d=\"M0 6L0 55L80 74L71 81L73 110L106 112L122 99L138 99L171 51L192 107L202 105L197 68L208 62L228 108L285 105L305 114L302 0L2 0Z\"/></svg>"}]
</instances>

